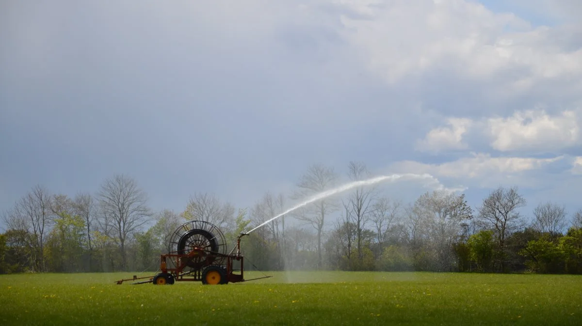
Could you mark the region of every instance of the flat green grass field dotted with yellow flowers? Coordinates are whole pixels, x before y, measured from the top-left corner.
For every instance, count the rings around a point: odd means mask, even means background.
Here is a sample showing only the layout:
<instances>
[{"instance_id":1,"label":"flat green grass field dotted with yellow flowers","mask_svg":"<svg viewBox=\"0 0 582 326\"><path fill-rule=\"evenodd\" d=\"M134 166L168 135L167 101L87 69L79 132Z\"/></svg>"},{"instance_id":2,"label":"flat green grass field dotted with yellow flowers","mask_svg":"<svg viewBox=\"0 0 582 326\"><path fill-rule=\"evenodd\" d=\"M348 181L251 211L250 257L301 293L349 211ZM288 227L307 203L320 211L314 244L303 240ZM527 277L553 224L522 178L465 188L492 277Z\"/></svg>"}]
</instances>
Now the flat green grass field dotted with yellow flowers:
<instances>
[{"instance_id":1,"label":"flat green grass field dotted with yellow flowers","mask_svg":"<svg viewBox=\"0 0 582 326\"><path fill-rule=\"evenodd\" d=\"M582 325L574 275L267 274L161 286L114 284L132 273L0 275L0 325Z\"/></svg>"}]
</instances>

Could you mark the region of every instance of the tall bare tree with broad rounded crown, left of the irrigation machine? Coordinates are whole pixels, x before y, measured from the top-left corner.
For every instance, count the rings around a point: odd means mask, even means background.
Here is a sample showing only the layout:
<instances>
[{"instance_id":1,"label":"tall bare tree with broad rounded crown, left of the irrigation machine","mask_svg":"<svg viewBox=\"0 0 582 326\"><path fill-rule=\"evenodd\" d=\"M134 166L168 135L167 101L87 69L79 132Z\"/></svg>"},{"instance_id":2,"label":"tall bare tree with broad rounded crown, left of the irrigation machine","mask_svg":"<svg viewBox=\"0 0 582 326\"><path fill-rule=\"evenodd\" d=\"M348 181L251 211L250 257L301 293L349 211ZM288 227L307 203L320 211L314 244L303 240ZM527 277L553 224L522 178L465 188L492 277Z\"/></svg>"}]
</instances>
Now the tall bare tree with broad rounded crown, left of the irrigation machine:
<instances>
[{"instance_id":1,"label":"tall bare tree with broad rounded crown, left of the irrigation machine","mask_svg":"<svg viewBox=\"0 0 582 326\"><path fill-rule=\"evenodd\" d=\"M125 243L130 234L148 222L152 212L147 195L125 175L106 180L98 192L102 225L106 234L119 245L122 268L127 266Z\"/></svg>"}]
</instances>

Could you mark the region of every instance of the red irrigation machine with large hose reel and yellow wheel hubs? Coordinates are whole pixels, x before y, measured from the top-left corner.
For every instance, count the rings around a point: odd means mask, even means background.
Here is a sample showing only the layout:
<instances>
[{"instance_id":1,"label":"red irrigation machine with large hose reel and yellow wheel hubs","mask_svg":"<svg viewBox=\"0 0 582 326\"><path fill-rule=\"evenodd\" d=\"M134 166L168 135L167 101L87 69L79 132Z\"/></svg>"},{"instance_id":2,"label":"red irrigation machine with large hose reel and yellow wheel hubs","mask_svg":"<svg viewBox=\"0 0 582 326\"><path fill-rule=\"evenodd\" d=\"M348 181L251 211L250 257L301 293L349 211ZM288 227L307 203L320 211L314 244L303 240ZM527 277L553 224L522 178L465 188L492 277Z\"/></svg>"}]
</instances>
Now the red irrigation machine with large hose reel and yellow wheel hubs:
<instances>
[{"instance_id":1,"label":"red irrigation machine with large hose reel and yellow wheel hubs","mask_svg":"<svg viewBox=\"0 0 582 326\"><path fill-rule=\"evenodd\" d=\"M154 285L174 284L176 281L201 281L202 284L228 284L259 280L271 276L244 280L244 257L240 254L241 233L236 245L226 253L226 239L219 228L207 221L189 221L173 232L168 245L168 253L161 255L159 273L154 276L137 277L116 281L139 281L133 284L152 283ZM236 253L233 253L235 252ZM240 264L240 268L236 265ZM239 271L240 274L235 274Z\"/></svg>"}]
</instances>

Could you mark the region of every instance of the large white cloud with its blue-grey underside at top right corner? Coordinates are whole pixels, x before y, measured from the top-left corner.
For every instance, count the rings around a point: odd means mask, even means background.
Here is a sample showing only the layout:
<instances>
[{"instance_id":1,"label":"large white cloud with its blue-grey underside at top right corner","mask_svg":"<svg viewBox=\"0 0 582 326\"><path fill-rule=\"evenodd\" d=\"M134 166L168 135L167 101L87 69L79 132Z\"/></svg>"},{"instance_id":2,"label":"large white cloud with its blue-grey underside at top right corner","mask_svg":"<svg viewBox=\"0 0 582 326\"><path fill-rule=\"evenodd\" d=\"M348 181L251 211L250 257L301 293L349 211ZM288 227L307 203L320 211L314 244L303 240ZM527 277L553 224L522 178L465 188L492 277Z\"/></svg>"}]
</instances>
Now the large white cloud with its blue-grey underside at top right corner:
<instances>
[{"instance_id":1,"label":"large white cloud with its blue-grey underside at top right corner","mask_svg":"<svg viewBox=\"0 0 582 326\"><path fill-rule=\"evenodd\" d=\"M580 25L533 26L462 0L344 6L365 15L341 19L361 64L391 87L420 91L427 106L440 102L441 113L480 116L580 98Z\"/></svg>"}]
</instances>

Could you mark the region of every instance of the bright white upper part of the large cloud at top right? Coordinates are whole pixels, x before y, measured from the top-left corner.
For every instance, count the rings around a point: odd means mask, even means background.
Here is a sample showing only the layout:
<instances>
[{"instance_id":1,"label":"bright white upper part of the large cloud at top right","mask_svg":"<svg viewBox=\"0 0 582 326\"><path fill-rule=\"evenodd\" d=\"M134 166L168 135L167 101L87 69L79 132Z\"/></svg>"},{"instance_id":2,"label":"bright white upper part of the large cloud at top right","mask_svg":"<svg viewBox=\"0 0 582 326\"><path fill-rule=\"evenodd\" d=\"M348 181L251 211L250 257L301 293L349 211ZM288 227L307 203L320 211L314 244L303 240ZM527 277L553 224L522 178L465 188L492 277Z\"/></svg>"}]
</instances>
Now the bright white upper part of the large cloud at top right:
<instances>
[{"instance_id":1,"label":"bright white upper part of the large cloud at top right","mask_svg":"<svg viewBox=\"0 0 582 326\"><path fill-rule=\"evenodd\" d=\"M517 96L545 80L579 79L582 72L582 49L555 41L558 27L532 27L477 2L342 3L367 15L342 17L346 38L364 64L390 84L440 71L469 80L501 78L485 92Z\"/></svg>"}]
</instances>

